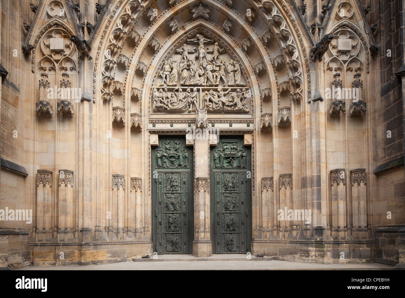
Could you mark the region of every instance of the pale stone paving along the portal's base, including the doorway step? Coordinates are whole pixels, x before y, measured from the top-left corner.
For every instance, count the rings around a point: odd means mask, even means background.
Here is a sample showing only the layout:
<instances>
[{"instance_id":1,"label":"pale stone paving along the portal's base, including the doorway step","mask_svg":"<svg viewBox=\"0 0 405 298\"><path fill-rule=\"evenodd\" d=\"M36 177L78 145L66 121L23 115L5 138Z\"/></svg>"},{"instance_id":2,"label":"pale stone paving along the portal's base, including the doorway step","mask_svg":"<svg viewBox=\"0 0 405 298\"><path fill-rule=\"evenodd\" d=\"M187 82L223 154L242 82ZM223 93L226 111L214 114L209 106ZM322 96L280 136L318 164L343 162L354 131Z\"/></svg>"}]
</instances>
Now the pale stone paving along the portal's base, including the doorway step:
<instances>
[{"instance_id":1,"label":"pale stone paving along the portal's base, including the doorway step","mask_svg":"<svg viewBox=\"0 0 405 298\"><path fill-rule=\"evenodd\" d=\"M197 258L192 255L159 255L156 260L152 258L133 260L134 262L88 266L29 266L17 270L391 270L393 268L376 263L314 264L275 261L271 258L254 256L247 260L245 255L226 257L213 255L207 258Z\"/></svg>"}]
</instances>

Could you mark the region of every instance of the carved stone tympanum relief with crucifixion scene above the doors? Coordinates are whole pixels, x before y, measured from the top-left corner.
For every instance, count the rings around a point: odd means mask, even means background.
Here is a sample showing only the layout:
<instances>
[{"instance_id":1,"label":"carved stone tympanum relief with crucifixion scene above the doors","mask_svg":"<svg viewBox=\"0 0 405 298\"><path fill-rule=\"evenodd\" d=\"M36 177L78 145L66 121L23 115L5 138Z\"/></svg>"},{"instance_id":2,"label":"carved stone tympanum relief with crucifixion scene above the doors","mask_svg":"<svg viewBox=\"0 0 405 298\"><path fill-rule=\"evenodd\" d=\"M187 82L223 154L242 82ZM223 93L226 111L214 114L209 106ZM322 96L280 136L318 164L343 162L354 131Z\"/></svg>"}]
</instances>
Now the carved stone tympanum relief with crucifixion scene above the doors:
<instances>
[{"instance_id":1,"label":"carved stone tympanum relief with crucifixion scene above the doors","mask_svg":"<svg viewBox=\"0 0 405 298\"><path fill-rule=\"evenodd\" d=\"M238 61L215 39L203 34L186 39L164 60L153 87L154 112L240 114L251 111L251 92L246 88Z\"/></svg>"}]
</instances>

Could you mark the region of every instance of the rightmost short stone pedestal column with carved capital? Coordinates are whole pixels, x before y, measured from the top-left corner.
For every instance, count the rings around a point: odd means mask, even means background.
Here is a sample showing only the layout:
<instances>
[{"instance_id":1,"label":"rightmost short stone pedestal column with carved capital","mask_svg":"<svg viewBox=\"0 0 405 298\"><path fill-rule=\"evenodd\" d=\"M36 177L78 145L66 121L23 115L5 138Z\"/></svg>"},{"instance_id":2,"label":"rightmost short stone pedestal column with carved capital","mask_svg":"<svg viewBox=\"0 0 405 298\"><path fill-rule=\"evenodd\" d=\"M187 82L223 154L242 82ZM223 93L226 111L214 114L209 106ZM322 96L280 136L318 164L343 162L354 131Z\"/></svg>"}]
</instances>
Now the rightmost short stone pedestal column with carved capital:
<instances>
[{"instance_id":1,"label":"rightmost short stone pedestal column with carved capital","mask_svg":"<svg viewBox=\"0 0 405 298\"><path fill-rule=\"evenodd\" d=\"M353 214L353 239L367 239L367 190L366 169L350 171L352 182L352 214Z\"/></svg>"}]
</instances>

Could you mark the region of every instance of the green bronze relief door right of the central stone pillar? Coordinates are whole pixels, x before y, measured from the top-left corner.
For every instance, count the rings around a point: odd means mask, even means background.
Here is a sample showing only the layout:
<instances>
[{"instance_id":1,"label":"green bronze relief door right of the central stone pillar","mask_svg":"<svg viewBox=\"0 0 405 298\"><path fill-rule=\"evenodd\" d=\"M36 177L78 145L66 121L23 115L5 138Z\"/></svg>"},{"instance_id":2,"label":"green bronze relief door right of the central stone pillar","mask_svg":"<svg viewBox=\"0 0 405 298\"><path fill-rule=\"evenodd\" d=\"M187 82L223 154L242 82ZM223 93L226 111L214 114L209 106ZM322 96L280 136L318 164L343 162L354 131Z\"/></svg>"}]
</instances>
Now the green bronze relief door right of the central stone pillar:
<instances>
[{"instance_id":1,"label":"green bronze relief door right of the central stone pillar","mask_svg":"<svg viewBox=\"0 0 405 298\"><path fill-rule=\"evenodd\" d=\"M252 239L250 148L240 137L211 147L213 253L246 253Z\"/></svg>"}]
</instances>

